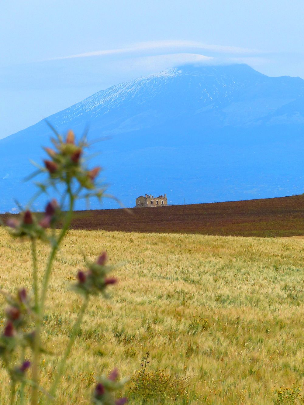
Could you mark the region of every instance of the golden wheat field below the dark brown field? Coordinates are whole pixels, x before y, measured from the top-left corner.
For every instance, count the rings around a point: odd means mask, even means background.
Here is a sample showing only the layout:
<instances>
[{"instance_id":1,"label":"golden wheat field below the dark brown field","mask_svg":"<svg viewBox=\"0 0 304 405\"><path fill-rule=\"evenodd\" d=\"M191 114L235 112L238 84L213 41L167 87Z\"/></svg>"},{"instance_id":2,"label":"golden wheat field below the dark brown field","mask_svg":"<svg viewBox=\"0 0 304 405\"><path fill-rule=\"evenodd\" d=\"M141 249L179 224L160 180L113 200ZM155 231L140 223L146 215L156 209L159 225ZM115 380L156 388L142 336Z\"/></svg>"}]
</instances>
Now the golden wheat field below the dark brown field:
<instances>
[{"instance_id":1,"label":"golden wheat field below the dark brown field","mask_svg":"<svg viewBox=\"0 0 304 405\"><path fill-rule=\"evenodd\" d=\"M95 379L113 367L131 377L130 404L300 403L304 239L71 230L55 260L43 323L55 355L81 305L70 288L81 249L92 259L106 250L120 282L109 300L91 298L56 403L89 404ZM47 248L39 245L38 254L42 269ZM30 288L30 265L29 244L0 228L1 288ZM1 298L1 325L3 313ZM46 387L57 362L43 356ZM0 383L5 403L3 370Z\"/></svg>"}]
</instances>

